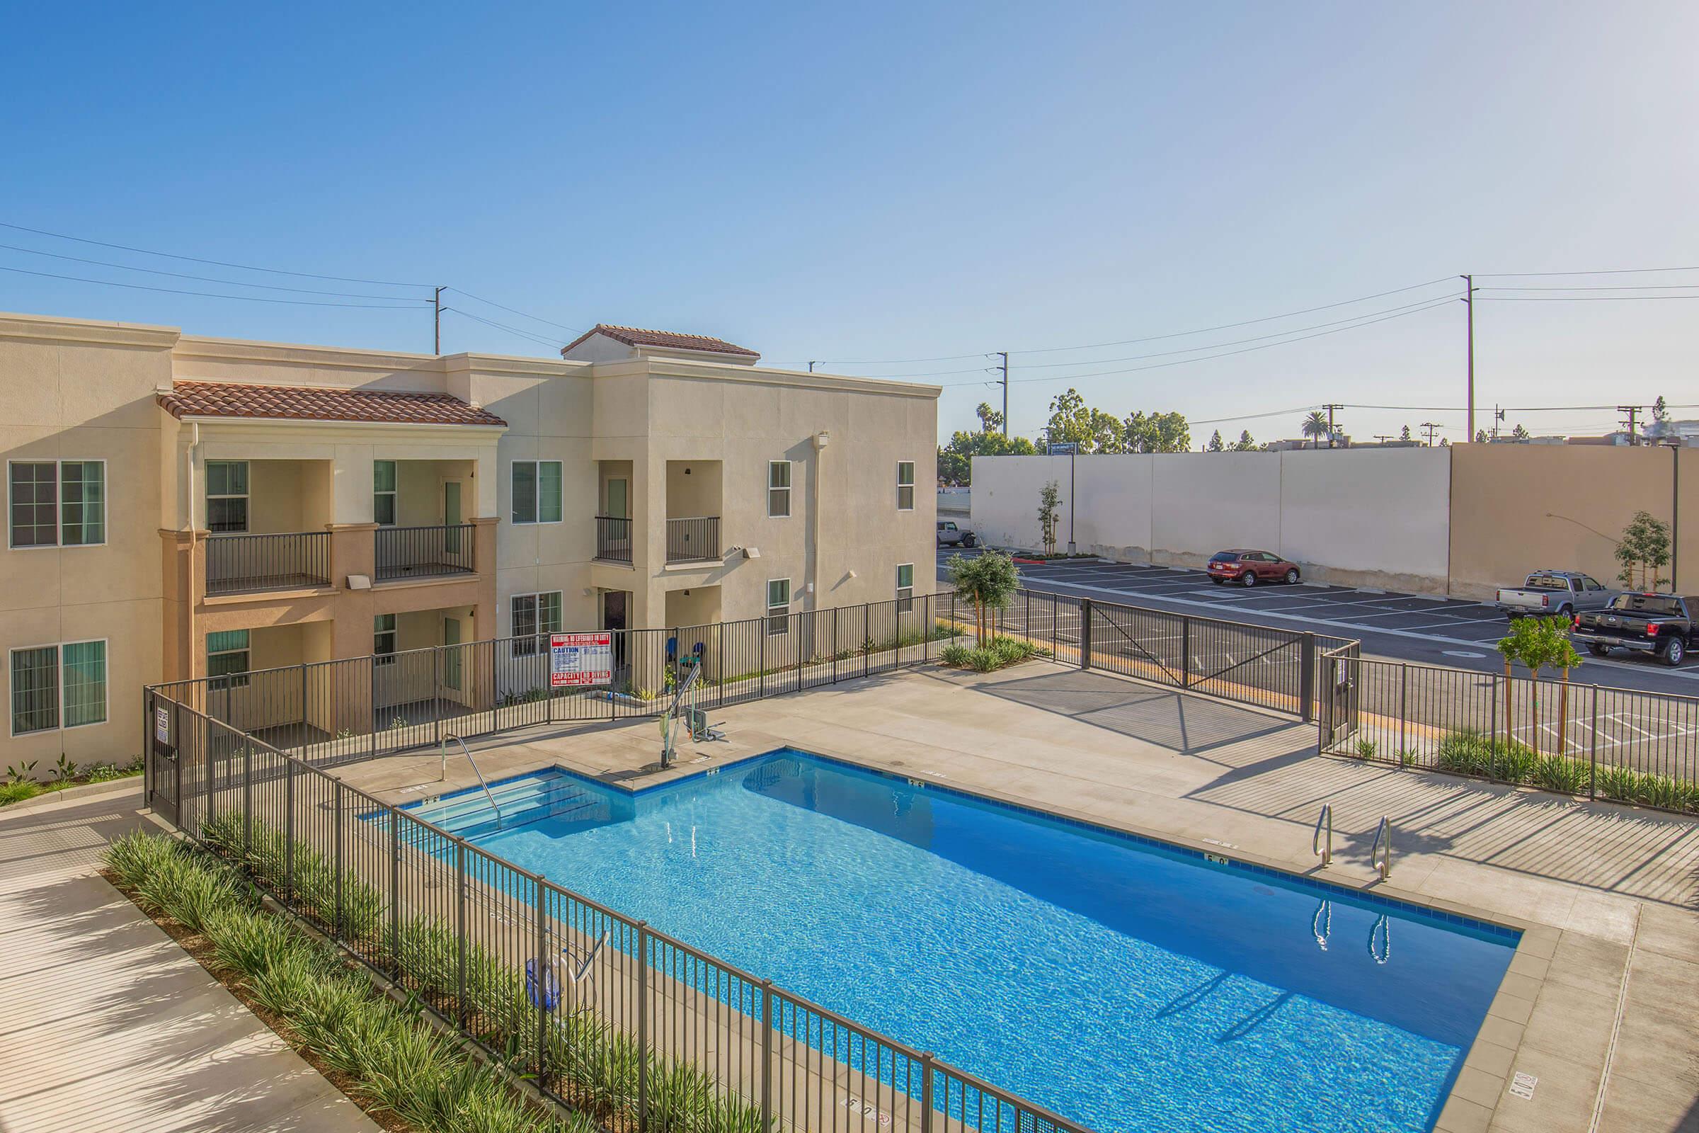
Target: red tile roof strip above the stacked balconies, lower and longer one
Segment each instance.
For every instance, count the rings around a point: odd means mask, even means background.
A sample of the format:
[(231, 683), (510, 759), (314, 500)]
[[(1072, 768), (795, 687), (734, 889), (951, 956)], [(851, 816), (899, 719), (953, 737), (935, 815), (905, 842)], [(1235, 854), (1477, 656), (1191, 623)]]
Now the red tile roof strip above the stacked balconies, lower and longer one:
[(379, 421), (392, 425), (506, 425), (450, 394), (323, 386), (243, 386), (173, 382), (160, 404), (175, 418), (289, 418), (299, 421)]

